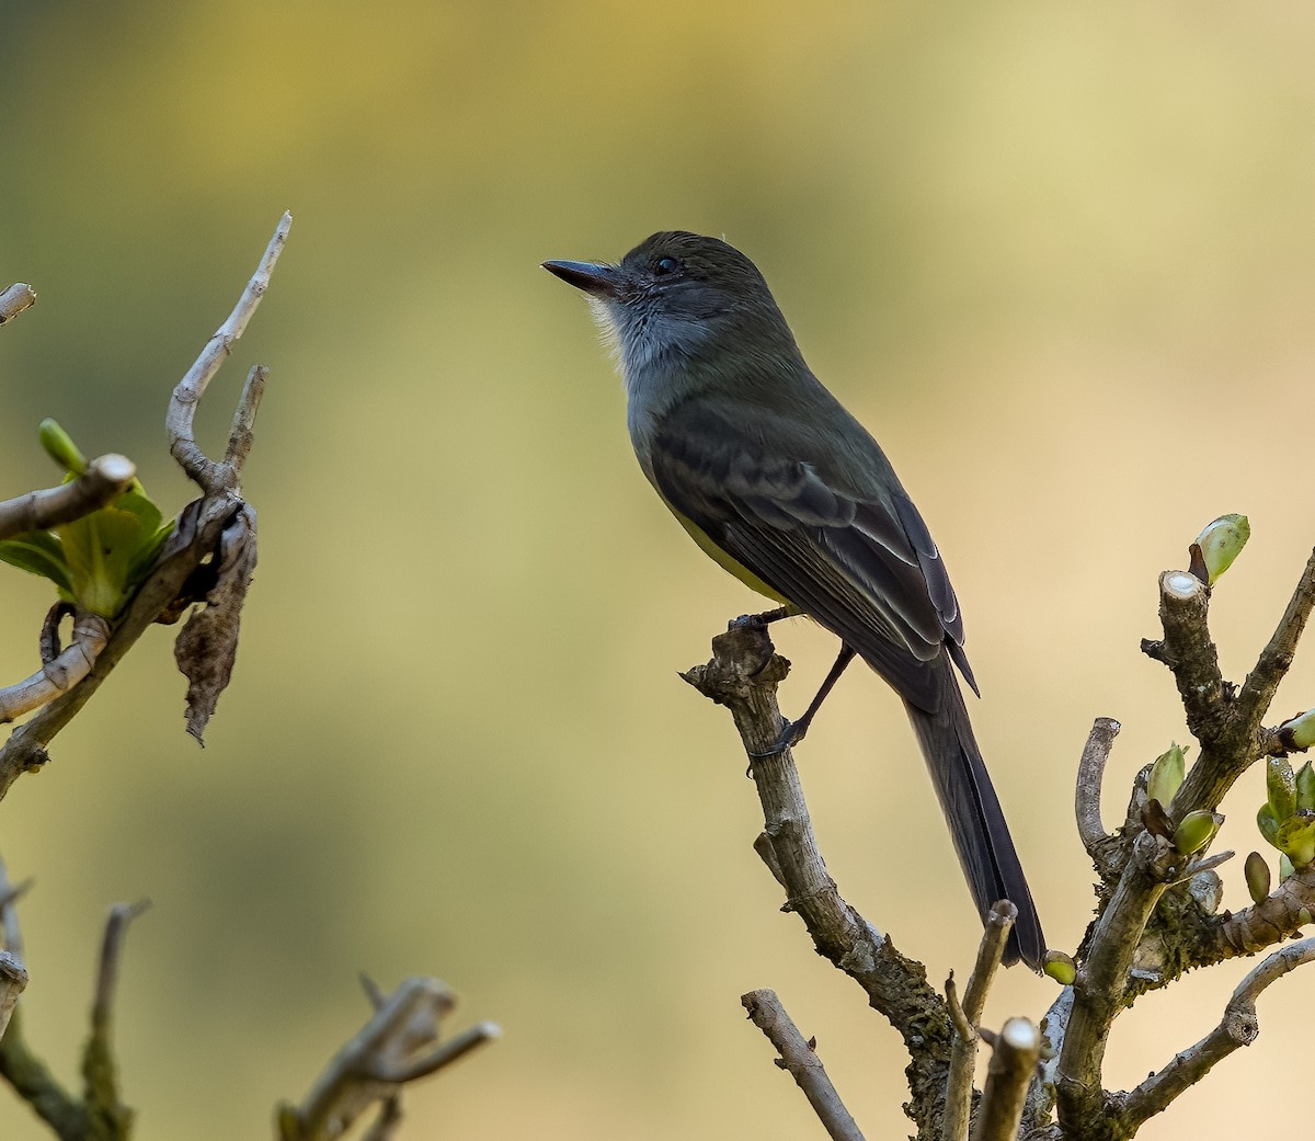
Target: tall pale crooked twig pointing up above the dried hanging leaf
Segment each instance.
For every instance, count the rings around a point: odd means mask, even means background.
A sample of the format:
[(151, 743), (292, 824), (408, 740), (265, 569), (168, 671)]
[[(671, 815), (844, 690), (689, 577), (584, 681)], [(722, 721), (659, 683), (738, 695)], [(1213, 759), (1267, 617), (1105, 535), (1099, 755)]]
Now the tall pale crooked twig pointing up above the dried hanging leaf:
[[(196, 414), (196, 405), (205, 394), (205, 389), (214, 377), (214, 373), (220, 371), (224, 359), (233, 351), (234, 343), (246, 331), (251, 314), (255, 313), (260, 298), (264, 297), (266, 289), (270, 288), (270, 276), (274, 273), (279, 254), (283, 252), (283, 246), (288, 239), (288, 230), (291, 227), (292, 214), (285, 213), (279, 220), (279, 225), (275, 227), (274, 237), (266, 247), (260, 264), (256, 266), (255, 273), (247, 283), (246, 289), (242, 291), (242, 296), (229, 314), (227, 321), (216, 330), (205, 348), (201, 350), (201, 355), (196, 359), (196, 363), (188, 369), (187, 376), (174, 389), (174, 398), (170, 401), (168, 414), (164, 417), (164, 426), (170, 435), (170, 454), (181, 464), (183, 471), (210, 494), (230, 490), (235, 485), (235, 465), (213, 463), (206, 459), (205, 452), (196, 443), (192, 435), (192, 419)], [(252, 381), (249, 379), (247, 389), (250, 390), (251, 388)], [(255, 392), (254, 400), (249, 393), (243, 393), (239, 409), (250, 408), (247, 429), (250, 429), (250, 418), (255, 414), (255, 402), (259, 402), (259, 390)], [(234, 440), (230, 439), (229, 452), (237, 455), (241, 451), (241, 444), (234, 446)]]

